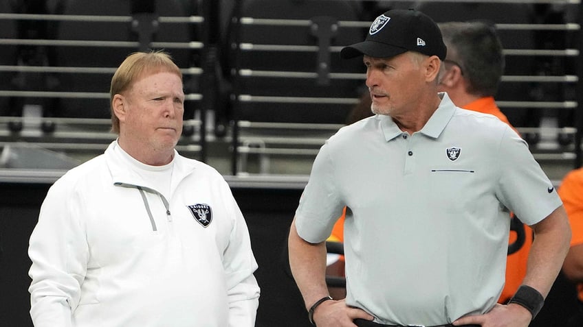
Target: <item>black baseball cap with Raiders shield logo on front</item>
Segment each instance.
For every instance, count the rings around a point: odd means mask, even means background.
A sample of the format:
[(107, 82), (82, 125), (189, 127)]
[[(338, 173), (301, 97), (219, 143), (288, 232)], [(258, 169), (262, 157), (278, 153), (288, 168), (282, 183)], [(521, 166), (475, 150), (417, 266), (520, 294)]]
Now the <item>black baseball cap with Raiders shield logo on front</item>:
[(444, 60), (448, 52), (437, 24), (423, 12), (394, 9), (373, 21), (364, 42), (342, 48), (344, 59), (365, 54), (374, 58), (390, 58), (406, 51), (417, 51)]

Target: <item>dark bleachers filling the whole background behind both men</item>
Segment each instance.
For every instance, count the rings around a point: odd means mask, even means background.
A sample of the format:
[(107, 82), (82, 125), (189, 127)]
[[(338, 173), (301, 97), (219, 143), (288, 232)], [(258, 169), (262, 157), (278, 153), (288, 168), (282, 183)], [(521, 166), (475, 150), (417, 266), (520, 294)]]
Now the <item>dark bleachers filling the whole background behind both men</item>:
[[(340, 60), (338, 51), (362, 39), (377, 14), (417, 7), (436, 21), (494, 22), (507, 60), (498, 105), (538, 159), (580, 163), (580, 5), (551, 2), (3, 1), (5, 13), (41, 14), (0, 19), (0, 123), (12, 133), (8, 141), (77, 144), (95, 137), (67, 141), (52, 132), (86, 130), (86, 120), (70, 119), (100, 119), (91, 124), (109, 141), (115, 66), (132, 51), (166, 49), (185, 73), (184, 149), (196, 143), (206, 160), (208, 134), (221, 146), (216, 153), (230, 150), (224, 159), (232, 175), (307, 173), (305, 162), (346, 122), (364, 89), (360, 60)], [(46, 139), (19, 134), (31, 106), (40, 107)]]

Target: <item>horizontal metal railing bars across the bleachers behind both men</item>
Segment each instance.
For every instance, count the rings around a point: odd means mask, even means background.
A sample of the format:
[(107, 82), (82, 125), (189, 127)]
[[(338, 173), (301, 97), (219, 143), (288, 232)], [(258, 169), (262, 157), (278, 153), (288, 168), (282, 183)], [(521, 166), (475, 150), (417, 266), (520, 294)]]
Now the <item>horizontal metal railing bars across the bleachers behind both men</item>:
[[(398, 2), (398, 1), (391, 1)], [(423, 1), (420, 1), (423, 2)], [(573, 5), (577, 10), (581, 10), (580, 1), (566, 0), (566, 1), (441, 1), (441, 2), (463, 2), (463, 3), (552, 3)], [(536, 72), (530, 71), (524, 74), (512, 73), (511, 75), (504, 75), (502, 77), (502, 84), (560, 84), (568, 85), (574, 88), (575, 98), (558, 99), (556, 101), (549, 100), (524, 100), (524, 99), (503, 99), (498, 101), (498, 106), (503, 110), (517, 108), (521, 110), (552, 110), (553, 112), (567, 112), (569, 110), (575, 112), (575, 121), (572, 126), (559, 126), (557, 128), (538, 128), (532, 126), (516, 126), (519, 132), (524, 134), (546, 134), (555, 135), (562, 134), (573, 138), (574, 142), (569, 146), (557, 147), (537, 147), (533, 146), (533, 154), (538, 160), (562, 160), (573, 161), (573, 166), (581, 165), (581, 128), (583, 126), (582, 117), (580, 114), (580, 103), (583, 97), (583, 90), (580, 82), (582, 76), (582, 45), (581, 35), (581, 13), (577, 12), (579, 21), (569, 21), (562, 24), (544, 24), (544, 23), (496, 23), (496, 28), (506, 33), (514, 33), (521, 31), (539, 31), (539, 32), (553, 32), (558, 34), (569, 34), (577, 37), (571, 38), (575, 40), (574, 43), (568, 43), (564, 49), (505, 49), (505, 56), (516, 58), (560, 58), (560, 60), (571, 60), (574, 62), (574, 68), (565, 71), (564, 74), (557, 75), (539, 75)], [(156, 23), (160, 26), (168, 24), (183, 24), (196, 25), (201, 28), (206, 28), (210, 20), (206, 16), (159, 16), (155, 17)], [(8, 14), (0, 13), (0, 21), (50, 21), (50, 22), (92, 22), (92, 23), (111, 23), (131, 25), (136, 24), (136, 19), (133, 16), (98, 16), (98, 15), (65, 15), (65, 14)], [(309, 27), (314, 26), (314, 21), (309, 19), (257, 19), (254, 17), (244, 16), (239, 19), (242, 26), (263, 26), (263, 27)], [(338, 21), (338, 28), (340, 29), (366, 29), (369, 27), (369, 21)], [(185, 42), (164, 42), (164, 40), (153, 41), (150, 40), (146, 44), (147, 47), (154, 49), (186, 49), (188, 51), (196, 51), (201, 56), (204, 56), (206, 51), (209, 51), (208, 44), (203, 36), (201, 40), (186, 40)], [(236, 49), (243, 53), (252, 54), (254, 56), (262, 56), (263, 53), (304, 53), (314, 54), (320, 53), (322, 48), (318, 44), (308, 45), (294, 45), (294, 44), (269, 44), (269, 43), (252, 43), (240, 40), (236, 45)], [(577, 42), (579, 44), (577, 44)], [(2, 47), (52, 47), (68, 49), (71, 47), (87, 48), (87, 53), (91, 53), (91, 49), (111, 48), (111, 49), (139, 49), (143, 47), (143, 39), (141, 40), (79, 40), (79, 39), (41, 39), (41, 38), (0, 38), (0, 49)], [(338, 45), (330, 45), (325, 49), (328, 53), (338, 54), (342, 47)], [(364, 81), (364, 73), (355, 73), (347, 71), (336, 71), (333, 67), (329, 67), (326, 74), (327, 79), (338, 81)], [(0, 64), (0, 73), (7, 74), (39, 74), (39, 75), (86, 75), (91, 76), (108, 76), (112, 75), (115, 67), (111, 66), (64, 66), (64, 65), (21, 65), (21, 64)], [(181, 67), (181, 72), (186, 76), (195, 80), (200, 79), (208, 73), (208, 66), (200, 64), (197, 66)], [(313, 71), (294, 71), (292, 69), (267, 69), (265, 67), (258, 69), (256, 67), (236, 67), (236, 77), (244, 82), (250, 80), (293, 80), (295, 83), (304, 84), (307, 81), (317, 80), (322, 75), (322, 71), (316, 70), (314, 64)], [(107, 86), (106, 86), (107, 87)], [(206, 152), (208, 144), (206, 139), (212, 137), (212, 126), (206, 126), (206, 110), (210, 108), (204, 101), (208, 100), (210, 96), (208, 92), (212, 90), (204, 90), (197, 88), (195, 91), (187, 92), (186, 100), (194, 104), (199, 110), (198, 117), (190, 117), (186, 119), (185, 128), (193, 132), (181, 138), (179, 143), (179, 151), (184, 151), (187, 154), (200, 158), (206, 158), (202, 153)], [(94, 99), (96, 101), (104, 101), (109, 99), (109, 93), (104, 91), (88, 91), (88, 90), (17, 90), (6, 89), (0, 87), (0, 99), (23, 99), (32, 102), (39, 99)], [(258, 93), (232, 93), (232, 101), (237, 105), (256, 105), (272, 108), (281, 104), (298, 104), (298, 105), (326, 105), (338, 106), (347, 108), (355, 106), (358, 103), (356, 97), (336, 97), (336, 96), (313, 96), (306, 94), (295, 95), (276, 95), (276, 94), (258, 94)], [(200, 108), (199, 108), (200, 107)], [(204, 108), (203, 108), (204, 107)], [(213, 108), (210, 108), (211, 110)], [(216, 109), (216, 108), (214, 108)], [(236, 108), (234, 108), (236, 110)], [(11, 125), (24, 123), (23, 130), (14, 132), (10, 129)], [(43, 123), (55, 123), (58, 128), (53, 132), (43, 132), (36, 128)], [(65, 152), (75, 156), (89, 156), (96, 154), (104, 149), (104, 146), (111, 141), (115, 135), (109, 132), (109, 119), (89, 119), (89, 118), (73, 118), (73, 117), (24, 117), (24, 116), (4, 116), (0, 117), (0, 144), (6, 145), (11, 142), (27, 142), (39, 147), (45, 147), (58, 152)], [(30, 128), (34, 126), (34, 128)], [(274, 158), (294, 158), (295, 160), (305, 160), (309, 162), (318, 152), (319, 147), (325, 140), (331, 136), (342, 124), (309, 124), (309, 123), (275, 123), (236, 119), (232, 122), (232, 126), (236, 129), (232, 134), (228, 134), (224, 138), (213, 138), (217, 142), (225, 142), (231, 144), (231, 150), (234, 152), (232, 158), (225, 158), (225, 160), (232, 161), (233, 175), (241, 173), (250, 173), (248, 167), (254, 160), (263, 160), (264, 167), (259, 171), (266, 174), (277, 175), (278, 171), (270, 171), (270, 160)], [(210, 136), (209, 136), (210, 135)], [(245, 165), (237, 164), (237, 160), (245, 157)], [(252, 158), (253, 157), (253, 158)], [(267, 163), (265, 163), (267, 162)], [(267, 167), (267, 168), (265, 168)], [(307, 173), (307, 172), (306, 172)]]

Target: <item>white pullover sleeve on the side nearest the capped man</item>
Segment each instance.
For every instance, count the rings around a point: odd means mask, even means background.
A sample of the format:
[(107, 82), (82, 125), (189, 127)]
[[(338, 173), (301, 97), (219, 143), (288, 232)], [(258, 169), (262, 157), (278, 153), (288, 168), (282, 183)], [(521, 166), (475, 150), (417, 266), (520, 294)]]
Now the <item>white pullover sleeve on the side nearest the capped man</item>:
[(228, 287), (229, 326), (253, 327), (260, 293), (253, 275), (257, 263), (243, 214), (226, 183), (225, 186), (223, 199), (233, 219), (229, 245), (223, 253), (223, 267)]

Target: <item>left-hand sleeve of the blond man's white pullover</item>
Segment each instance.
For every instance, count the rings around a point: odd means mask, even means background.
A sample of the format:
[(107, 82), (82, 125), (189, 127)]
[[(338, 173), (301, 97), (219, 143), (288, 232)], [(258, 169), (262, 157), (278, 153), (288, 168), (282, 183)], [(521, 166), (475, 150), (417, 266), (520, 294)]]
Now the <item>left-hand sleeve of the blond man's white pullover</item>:
[(78, 211), (72, 192), (57, 181), (41, 206), (28, 249), (30, 315), (35, 327), (72, 326), (88, 257)]

